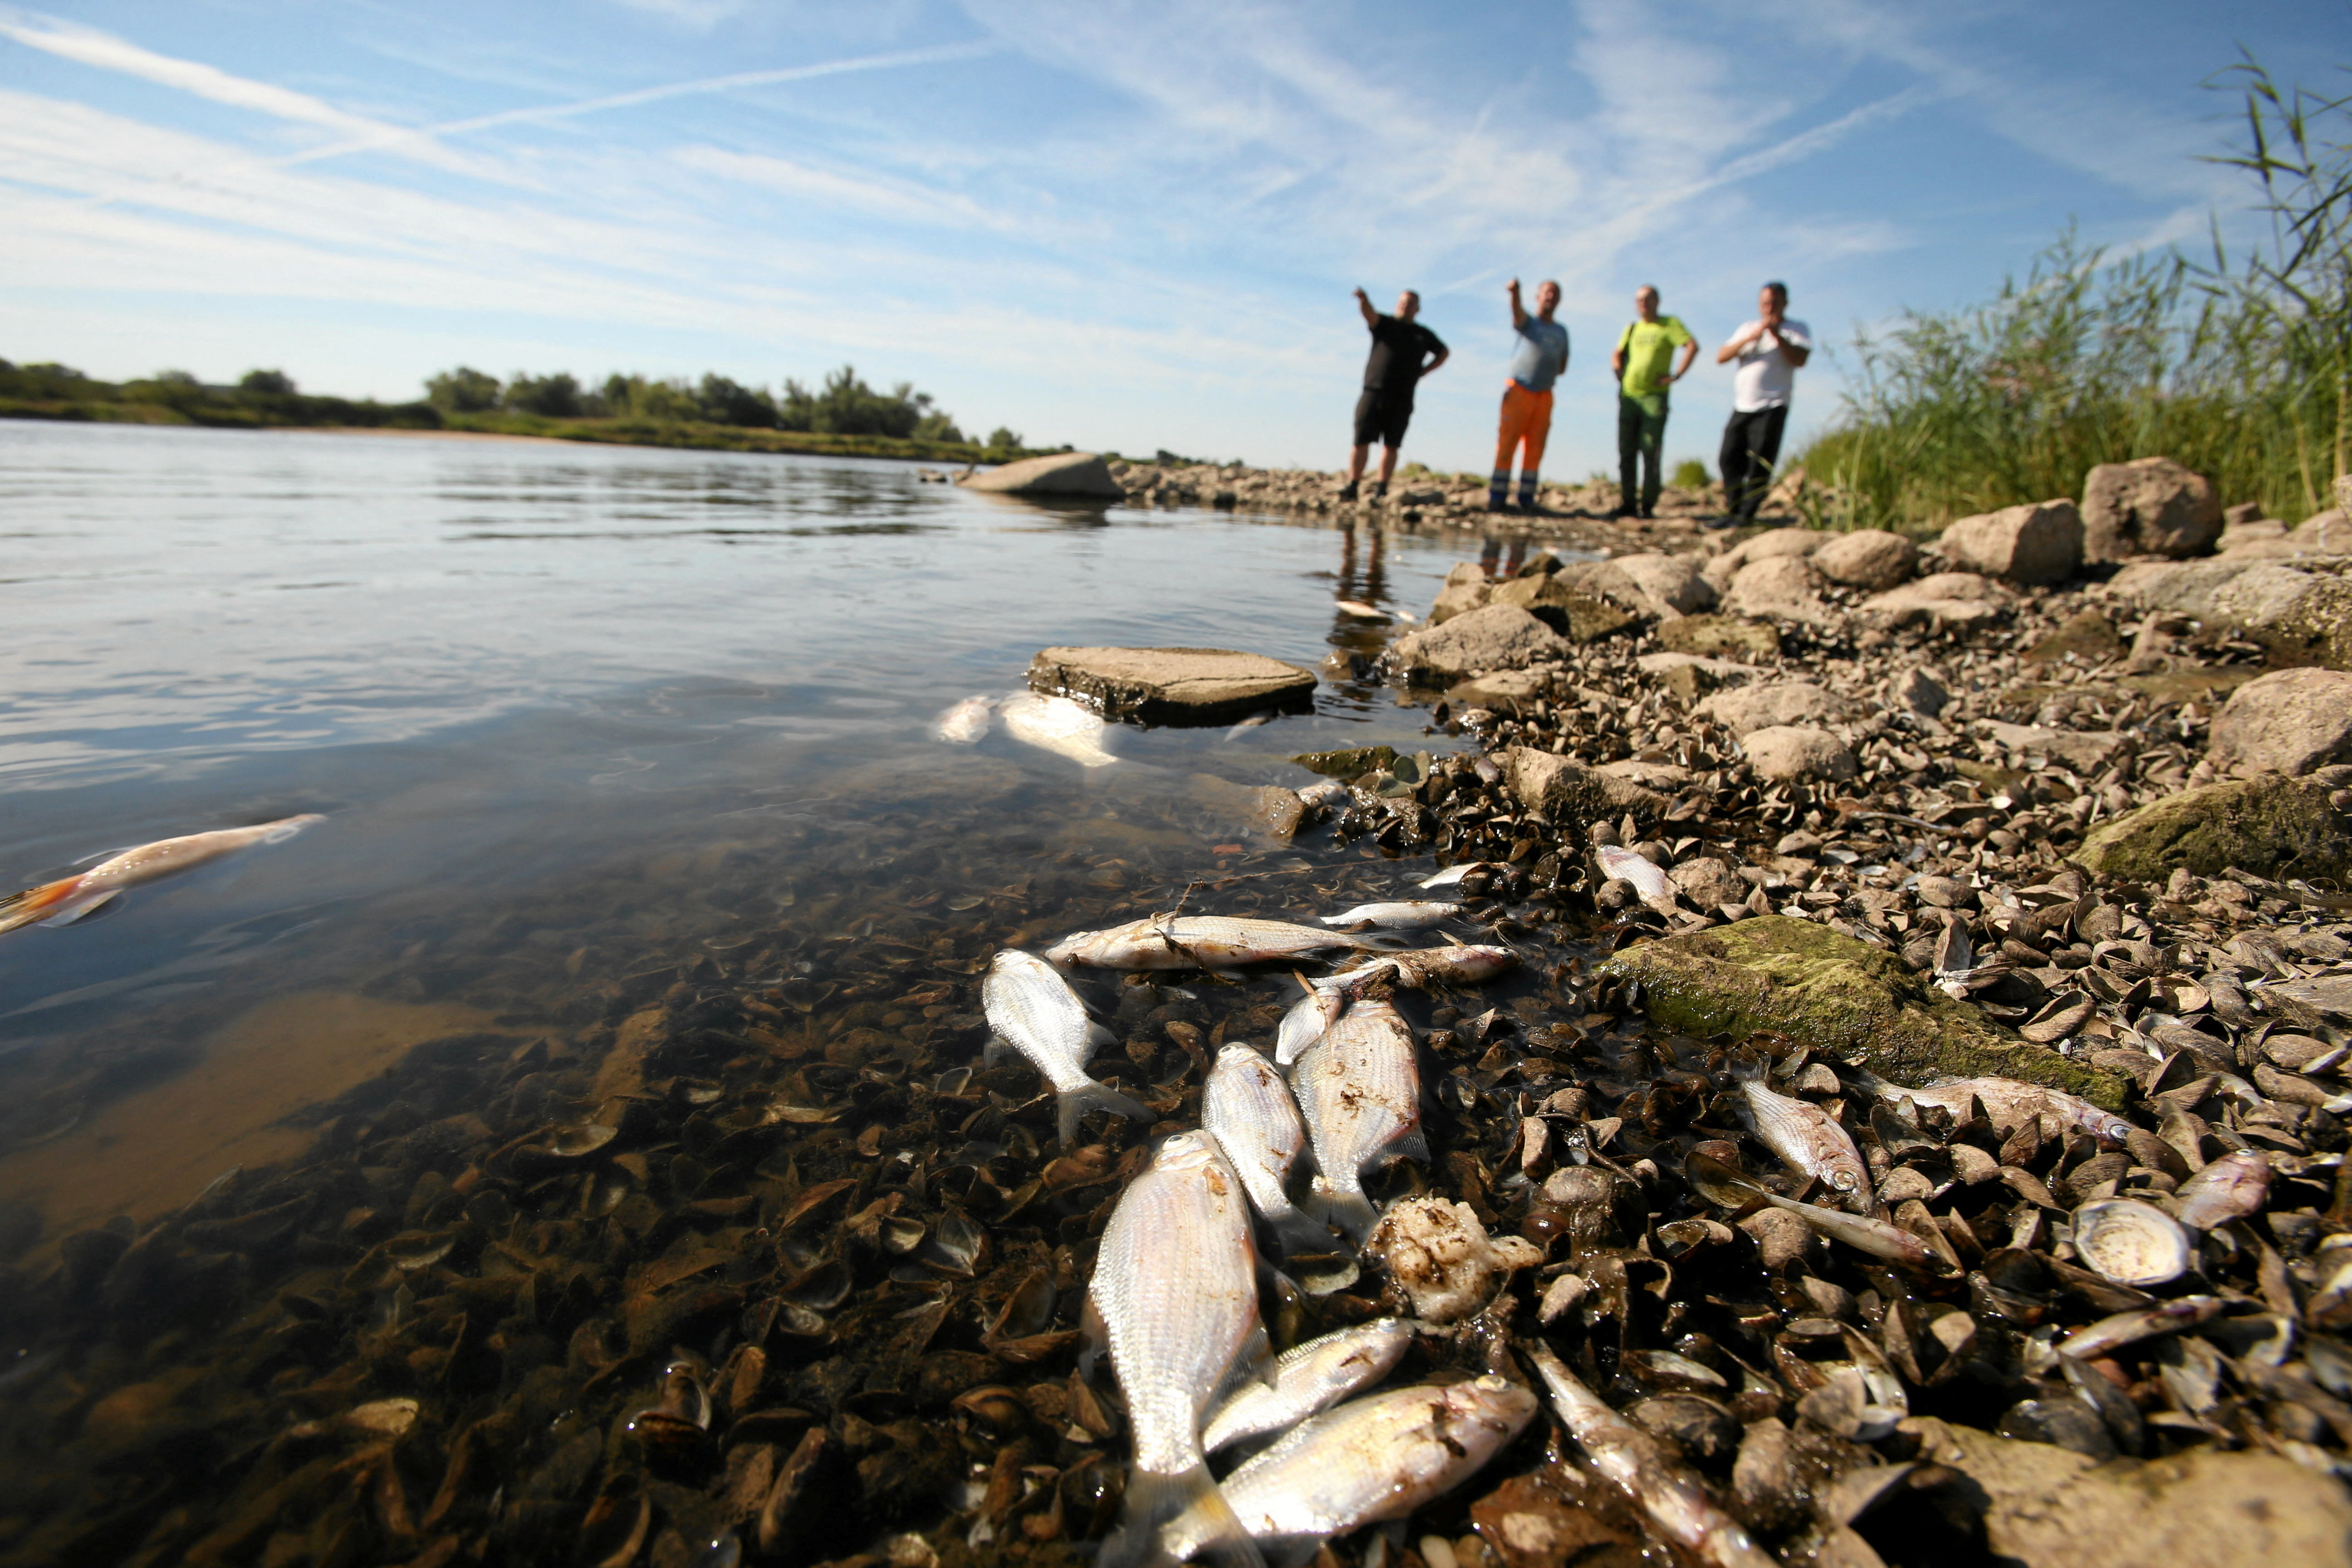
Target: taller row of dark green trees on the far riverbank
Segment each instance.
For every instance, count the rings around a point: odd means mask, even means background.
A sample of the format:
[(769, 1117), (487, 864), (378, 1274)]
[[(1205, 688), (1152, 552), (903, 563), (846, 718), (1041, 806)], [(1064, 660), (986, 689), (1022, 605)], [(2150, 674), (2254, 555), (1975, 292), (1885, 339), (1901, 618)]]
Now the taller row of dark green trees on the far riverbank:
[[(581, 386), (569, 371), (532, 376), (515, 371), (506, 381), (470, 364), (426, 378), (426, 402), (445, 414), (536, 414), (541, 418), (642, 418), (701, 421), (748, 430), (804, 430), (814, 435), (889, 435), (898, 440), (964, 442), (955, 418), (913, 381), (877, 390), (854, 364), (828, 371), (811, 390), (795, 378), (781, 393), (743, 386), (729, 376), (706, 374), (699, 383), (684, 376), (604, 376), (602, 386)], [(1021, 447), (1016, 430), (997, 428), (978, 442), (993, 451)]]

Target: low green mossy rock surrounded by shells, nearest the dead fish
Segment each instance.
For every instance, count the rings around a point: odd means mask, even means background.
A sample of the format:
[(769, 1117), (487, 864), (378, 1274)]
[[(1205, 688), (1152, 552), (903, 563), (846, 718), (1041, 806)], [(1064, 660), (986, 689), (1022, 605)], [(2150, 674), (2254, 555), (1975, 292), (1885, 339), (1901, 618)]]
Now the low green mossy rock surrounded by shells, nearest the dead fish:
[(1639, 943), (1599, 966), (1637, 980), (1661, 1030), (1745, 1039), (1776, 1030), (1896, 1084), (1997, 1074), (2122, 1110), (2124, 1081), (2018, 1039), (1891, 952), (1792, 914)]

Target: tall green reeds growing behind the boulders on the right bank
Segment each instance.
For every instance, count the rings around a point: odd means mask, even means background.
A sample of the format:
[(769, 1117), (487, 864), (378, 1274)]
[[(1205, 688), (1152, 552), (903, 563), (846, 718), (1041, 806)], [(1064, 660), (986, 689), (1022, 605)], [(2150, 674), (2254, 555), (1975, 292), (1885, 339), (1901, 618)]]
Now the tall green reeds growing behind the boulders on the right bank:
[(2352, 94), (2279, 87), (2256, 61), (2223, 162), (2270, 235), (2232, 256), (2110, 261), (2060, 235), (1983, 306), (1860, 334), (1837, 423), (1797, 461), (1806, 522), (1926, 531), (2082, 494), (2096, 463), (2169, 456), (2225, 501), (2305, 517), (2352, 470)]

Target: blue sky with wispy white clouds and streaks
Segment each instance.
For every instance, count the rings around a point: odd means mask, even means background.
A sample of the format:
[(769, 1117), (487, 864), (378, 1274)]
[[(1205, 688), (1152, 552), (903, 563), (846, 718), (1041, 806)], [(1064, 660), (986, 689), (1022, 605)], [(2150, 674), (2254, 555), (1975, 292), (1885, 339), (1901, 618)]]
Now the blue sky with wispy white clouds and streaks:
[[(2244, 45), (2336, 87), (2345, 0), (89, 0), (0, 5), (0, 355), (814, 381), (967, 428), (1334, 468), (1348, 292), (1454, 362), (1406, 456), (1484, 470), (1503, 282), (1557, 277), (1545, 468), (1613, 465), (1639, 282), (1712, 350), (1785, 277), (1830, 346), (1983, 296), (2067, 221), (2244, 228), (2199, 162)], [(1799, 381), (1835, 414), (1839, 355)], [(1729, 409), (1712, 353), (1668, 456)]]

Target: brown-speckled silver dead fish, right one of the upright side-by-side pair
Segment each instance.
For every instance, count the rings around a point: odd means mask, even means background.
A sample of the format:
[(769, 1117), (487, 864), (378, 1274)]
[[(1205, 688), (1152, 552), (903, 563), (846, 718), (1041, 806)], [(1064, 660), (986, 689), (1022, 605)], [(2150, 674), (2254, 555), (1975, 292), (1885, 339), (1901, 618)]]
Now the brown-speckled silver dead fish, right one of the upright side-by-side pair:
[(1364, 1197), (1364, 1171), (1430, 1157), (1411, 1025), (1385, 1001), (1350, 1001), (1298, 1058), (1291, 1088), (1322, 1171), (1315, 1192), (1324, 1218), (1362, 1244), (1381, 1220)]

